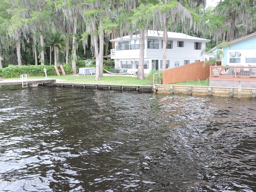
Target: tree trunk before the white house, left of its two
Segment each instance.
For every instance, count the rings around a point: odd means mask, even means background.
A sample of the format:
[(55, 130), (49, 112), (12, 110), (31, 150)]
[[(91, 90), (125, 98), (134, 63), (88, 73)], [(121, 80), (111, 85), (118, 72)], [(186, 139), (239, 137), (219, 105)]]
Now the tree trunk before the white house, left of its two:
[(140, 30), (140, 56), (138, 66), (138, 79), (144, 79), (144, 50), (145, 50), (145, 30)]

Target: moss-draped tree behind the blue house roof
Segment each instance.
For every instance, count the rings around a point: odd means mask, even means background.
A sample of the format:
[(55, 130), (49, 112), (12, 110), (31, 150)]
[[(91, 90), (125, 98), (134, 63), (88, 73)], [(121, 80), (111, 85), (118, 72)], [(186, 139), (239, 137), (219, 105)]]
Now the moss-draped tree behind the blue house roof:
[(256, 30), (256, 4), (252, 0), (221, 0), (206, 14), (214, 41), (231, 41)]

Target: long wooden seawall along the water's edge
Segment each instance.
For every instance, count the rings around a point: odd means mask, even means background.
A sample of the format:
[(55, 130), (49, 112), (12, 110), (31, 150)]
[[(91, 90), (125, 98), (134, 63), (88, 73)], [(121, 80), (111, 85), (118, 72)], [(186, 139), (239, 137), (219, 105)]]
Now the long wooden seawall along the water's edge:
[(188, 86), (188, 85), (162, 85), (137, 86), (137, 85), (108, 85), (108, 84), (83, 84), (83, 83), (42, 83), (41, 86), (67, 87), (67, 88), (88, 88), (102, 90), (120, 90), (120, 91), (138, 91), (154, 92), (166, 94), (189, 94), (189, 95), (212, 95), (228, 97), (252, 97), (256, 96), (255, 88), (228, 88), (228, 87), (210, 87), (210, 86)]

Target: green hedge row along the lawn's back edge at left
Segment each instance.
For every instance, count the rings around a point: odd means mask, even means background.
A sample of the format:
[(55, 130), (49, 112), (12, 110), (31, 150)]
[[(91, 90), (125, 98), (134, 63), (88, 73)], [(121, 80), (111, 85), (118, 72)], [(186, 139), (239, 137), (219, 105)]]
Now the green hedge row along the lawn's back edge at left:
[[(44, 68), (47, 69), (47, 75), (53, 76), (56, 75), (54, 66), (47, 65), (30, 65), (30, 66), (17, 66), (9, 65), (6, 68), (0, 68), (0, 76), (3, 78), (14, 78), (19, 77), (21, 74), (28, 74), (29, 76), (45, 76)], [(60, 69), (60, 66), (58, 66)], [(66, 74), (72, 74), (72, 66), (70, 64), (63, 65), (63, 68)]]

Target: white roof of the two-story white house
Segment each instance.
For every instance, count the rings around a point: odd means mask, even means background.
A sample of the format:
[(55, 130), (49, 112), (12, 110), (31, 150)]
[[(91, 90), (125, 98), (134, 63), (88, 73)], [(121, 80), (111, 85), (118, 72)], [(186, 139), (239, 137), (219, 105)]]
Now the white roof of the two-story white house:
[[(148, 30), (148, 33), (146, 34), (147, 38), (163, 38), (164, 32), (163, 31), (155, 31), (155, 30)], [(180, 39), (180, 40), (198, 40), (198, 41), (210, 41), (208, 39), (204, 39), (204, 38), (198, 38), (198, 37), (193, 37), (190, 35), (186, 35), (184, 33), (176, 33), (176, 32), (168, 32), (167, 33), (168, 38), (170, 39)], [(140, 38), (140, 34), (134, 34), (134, 35), (127, 35), (127, 36), (123, 36), (120, 38), (115, 38), (110, 40), (111, 42), (116, 42), (116, 41), (124, 41), (124, 40), (131, 40), (131, 39), (139, 39)]]

